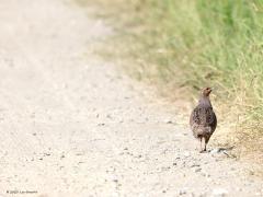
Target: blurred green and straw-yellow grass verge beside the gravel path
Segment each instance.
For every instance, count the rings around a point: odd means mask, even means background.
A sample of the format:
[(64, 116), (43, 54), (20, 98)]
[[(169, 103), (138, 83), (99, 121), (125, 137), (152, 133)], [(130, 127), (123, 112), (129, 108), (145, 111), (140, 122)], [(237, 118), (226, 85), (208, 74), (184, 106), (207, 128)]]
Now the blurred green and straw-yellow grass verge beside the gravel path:
[(215, 88), (218, 143), (263, 161), (263, 0), (78, 1), (116, 28), (104, 56), (171, 101)]

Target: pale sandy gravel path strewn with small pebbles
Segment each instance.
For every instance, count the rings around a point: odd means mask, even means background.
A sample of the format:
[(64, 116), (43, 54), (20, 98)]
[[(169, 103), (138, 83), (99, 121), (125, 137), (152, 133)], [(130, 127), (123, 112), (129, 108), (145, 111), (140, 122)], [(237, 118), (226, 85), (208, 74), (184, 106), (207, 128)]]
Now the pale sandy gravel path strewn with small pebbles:
[(172, 114), (87, 57), (111, 30), (80, 8), (2, 0), (0, 24), (0, 196), (263, 195), (241, 164), (197, 153)]

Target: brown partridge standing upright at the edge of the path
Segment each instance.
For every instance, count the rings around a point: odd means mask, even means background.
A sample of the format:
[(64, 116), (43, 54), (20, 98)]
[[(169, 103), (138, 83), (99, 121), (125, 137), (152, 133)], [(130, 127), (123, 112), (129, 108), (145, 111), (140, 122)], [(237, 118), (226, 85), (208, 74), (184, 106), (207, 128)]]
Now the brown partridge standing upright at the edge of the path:
[[(211, 88), (205, 88), (201, 91), (198, 104), (190, 116), (191, 130), (194, 137), (201, 142), (199, 152), (206, 151), (206, 146), (217, 127), (217, 116), (209, 99), (211, 90)], [(203, 140), (205, 141), (204, 149), (202, 146)]]

